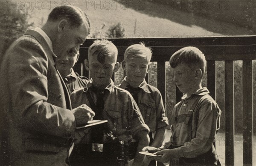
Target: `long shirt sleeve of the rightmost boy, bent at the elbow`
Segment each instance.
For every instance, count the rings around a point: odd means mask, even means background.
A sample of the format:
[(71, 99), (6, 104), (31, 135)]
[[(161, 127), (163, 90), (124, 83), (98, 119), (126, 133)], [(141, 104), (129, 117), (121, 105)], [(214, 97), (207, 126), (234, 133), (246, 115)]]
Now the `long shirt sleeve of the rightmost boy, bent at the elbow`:
[(215, 139), (220, 117), (216, 103), (207, 102), (199, 108), (198, 129), (196, 137), (179, 148), (172, 149), (175, 158), (197, 157), (209, 151)]

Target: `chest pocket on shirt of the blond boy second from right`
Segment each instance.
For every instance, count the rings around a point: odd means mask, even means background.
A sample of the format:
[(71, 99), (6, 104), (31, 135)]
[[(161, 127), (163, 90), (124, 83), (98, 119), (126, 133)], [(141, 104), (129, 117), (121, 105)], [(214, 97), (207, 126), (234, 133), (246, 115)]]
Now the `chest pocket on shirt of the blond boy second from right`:
[(141, 101), (139, 104), (139, 109), (146, 124), (154, 123), (156, 121), (157, 115), (154, 101)]

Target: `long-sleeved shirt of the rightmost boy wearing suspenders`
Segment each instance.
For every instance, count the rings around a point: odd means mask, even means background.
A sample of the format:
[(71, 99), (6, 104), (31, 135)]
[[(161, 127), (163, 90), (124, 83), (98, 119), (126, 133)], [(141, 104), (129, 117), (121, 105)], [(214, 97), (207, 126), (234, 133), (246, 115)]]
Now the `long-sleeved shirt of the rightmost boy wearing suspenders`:
[[(172, 149), (175, 158), (180, 157), (197, 157), (206, 153), (215, 141), (216, 131), (220, 127), (220, 114), (215, 100), (212, 99), (206, 87), (198, 89), (191, 97), (184, 95), (182, 100), (177, 103), (172, 111), (170, 120), (172, 136), (169, 142), (163, 146), (169, 148), (171, 145), (179, 145), (181, 147)], [(188, 126), (185, 124), (184, 118), (192, 105), (195, 103), (194, 95), (204, 95), (198, 101), (195, 110), (198, 110), (198, 123), (195, 124), (195, 118), (192, 120), (192, 140), (188, 140)], [(180, 106), (180, 107), (179, 107)], [(179, 108), (178, 108), (179, 107)], [(177, 118), (177, 122), (175, 120)], [(182, 120), (183, 119), (183, 120)]]

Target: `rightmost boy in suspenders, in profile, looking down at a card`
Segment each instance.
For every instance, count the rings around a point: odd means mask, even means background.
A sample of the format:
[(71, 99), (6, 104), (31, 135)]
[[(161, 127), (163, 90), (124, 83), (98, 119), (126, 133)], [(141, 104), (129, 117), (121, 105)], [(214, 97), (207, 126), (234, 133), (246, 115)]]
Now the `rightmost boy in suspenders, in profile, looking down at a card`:
[(216, 132), (220, 127), (219, 109), (215, 100), (202, 87), (206, 60), (195, 47), (185, 47), (175, 52), (169, 60), (172, 76), (182, 100), (172, 111), (170, 123), (172, 136), (160, 148), (145, 147), (155, 152), (154, 157), (170, 165), (220, 165), (215, 151)]

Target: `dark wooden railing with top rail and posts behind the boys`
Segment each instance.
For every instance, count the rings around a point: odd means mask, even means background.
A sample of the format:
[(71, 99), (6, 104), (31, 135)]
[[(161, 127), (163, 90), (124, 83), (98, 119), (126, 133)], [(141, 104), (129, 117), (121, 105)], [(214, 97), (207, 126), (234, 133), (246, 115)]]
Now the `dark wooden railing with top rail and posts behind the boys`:
[[(88, 47), (95, 39), (88, 39), (81, 46), (79, 62), (74, 69), (88, 76), (83, 62), (87, 59)], [(151, 61), (157, 62), (157, 88), (166, 103), (166, 66), (170, 56), (185, 46), (198, 47), (207, 60), (207, 88), (210, 95), (216, 98), (216, 61), (225, 61), (225, 165), (234, 165), (234, 60), (243, 61), (243, 163), (252, 165), (253, 137), (253, 73), (252, 60), (256, 59), (256, 35), (231, 37), (172, 37), (172, 38), (111, 38), (118, 48), (118, 62), (122, 62), (125, 49), (141, 41), (153, 49)], [(103, 40), (102, 42), (106, 42)], [(114, 79), (114, 76), (113, 76)], [(176, 98), (182, 94), (176, 89)], [(254, 108), (255, 109), (255, 108)]]

